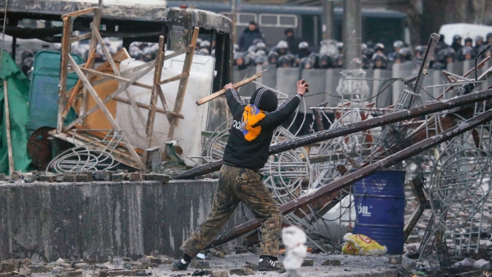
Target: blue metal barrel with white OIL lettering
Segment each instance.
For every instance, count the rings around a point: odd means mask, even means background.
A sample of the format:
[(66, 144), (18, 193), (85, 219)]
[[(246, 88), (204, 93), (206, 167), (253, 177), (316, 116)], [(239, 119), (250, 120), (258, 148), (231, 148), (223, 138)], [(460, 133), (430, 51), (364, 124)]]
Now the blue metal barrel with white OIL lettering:
[(354, 234), (363, 234), (403, 254), (405, 171), (383, 170), (352, 185), (357, 216)]

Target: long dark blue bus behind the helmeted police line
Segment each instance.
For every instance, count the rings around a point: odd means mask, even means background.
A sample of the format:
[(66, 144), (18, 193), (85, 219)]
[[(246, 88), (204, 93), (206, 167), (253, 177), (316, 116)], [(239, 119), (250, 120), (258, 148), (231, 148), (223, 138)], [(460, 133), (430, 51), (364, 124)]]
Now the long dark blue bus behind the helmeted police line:
[[(166, 1), (168, 7), (179, 7), (182, 1)], [(197, 9), (208, 10), (233, 18), (231, 5), (216, 2), (186, 2)], [(286, 28), (294, 29), (297, 37), (308, 42), (310, 46), (318, 47), (322, 40), (322, 7), (240, 4), (236, 8), (236, 28), (238, 36), (249, 22), (254, 21), (265, 37), (265, 44), (273, 47), (284, 39)], [(334, 39), (342, 41), (343, 9), (334, 9)], [(391, 28), (388, 28), (391, 26)], [(401, 40), (409, 44), (407, 15), (393, 10), (362, 9), (362, 42), (380, 42), (385, 46)]]

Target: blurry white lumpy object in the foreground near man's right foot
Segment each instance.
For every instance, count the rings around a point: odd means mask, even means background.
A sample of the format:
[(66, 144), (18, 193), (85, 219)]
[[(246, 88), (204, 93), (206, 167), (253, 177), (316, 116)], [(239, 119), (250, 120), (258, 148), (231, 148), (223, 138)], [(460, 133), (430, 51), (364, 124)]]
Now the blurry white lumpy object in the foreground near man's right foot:
[(289, 277), (297, 276), (296, 270), (301, 268), (308, 247), (306, 243), (306, 234), (297, 226), (289, 226), (282, 229), (282, 242), (285, 246), (285, 259), (283, 267)]

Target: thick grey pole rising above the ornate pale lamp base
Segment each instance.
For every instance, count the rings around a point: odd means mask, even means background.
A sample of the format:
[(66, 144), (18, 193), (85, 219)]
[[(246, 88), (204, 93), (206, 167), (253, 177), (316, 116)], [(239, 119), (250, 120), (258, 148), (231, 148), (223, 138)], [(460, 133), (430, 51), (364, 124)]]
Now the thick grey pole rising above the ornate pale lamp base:
[(360, 0), (343, 0), (343, 69), (353, 70), (360, 69), (360, 63), (354, 62), (360, 60), (360, 44), (362, 19)]

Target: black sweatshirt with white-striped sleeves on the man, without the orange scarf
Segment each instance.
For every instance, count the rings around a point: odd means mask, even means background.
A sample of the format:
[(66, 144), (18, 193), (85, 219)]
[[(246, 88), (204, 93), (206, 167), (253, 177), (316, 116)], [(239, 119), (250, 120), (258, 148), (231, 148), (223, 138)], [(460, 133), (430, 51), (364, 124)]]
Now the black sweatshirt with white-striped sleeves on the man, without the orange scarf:
[(252, 141), (246, 140), (241, 130), (241, 118), (247, 105), (241, 101), (235, 89), (228, 89), (226, 97), (233, 114), (233, 121), (222, 160), (224, 164), (231, 166), (259, 170), (267, 163), (273, 132), (296, 110), (302, 95), (294, 94), (277, 110), (264, 112), (265, 117), (255, 125), (255, 127), (261, 126), (261, 132)]

